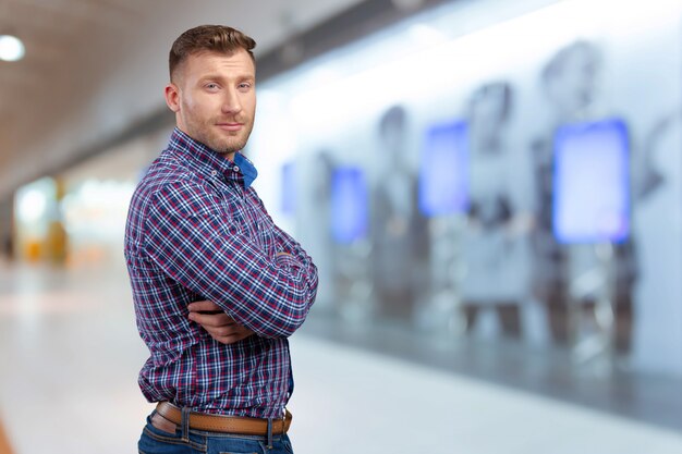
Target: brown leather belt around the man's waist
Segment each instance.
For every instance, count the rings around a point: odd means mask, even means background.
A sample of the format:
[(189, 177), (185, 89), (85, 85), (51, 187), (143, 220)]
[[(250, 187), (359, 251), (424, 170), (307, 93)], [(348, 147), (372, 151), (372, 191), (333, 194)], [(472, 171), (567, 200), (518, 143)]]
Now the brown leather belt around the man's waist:
[[(182, 425), (182, 410), (169, 402), (159, 402), (156, 406), (156, 413), (178, 426)], [(291, 426), (291, 419), (292, 416), (289, 410), (282, 419), (272, 419), (272, 434), (287, 433)], [(268, 420), (191, 412), (190, 429), (265, 437), (268, 434)]]

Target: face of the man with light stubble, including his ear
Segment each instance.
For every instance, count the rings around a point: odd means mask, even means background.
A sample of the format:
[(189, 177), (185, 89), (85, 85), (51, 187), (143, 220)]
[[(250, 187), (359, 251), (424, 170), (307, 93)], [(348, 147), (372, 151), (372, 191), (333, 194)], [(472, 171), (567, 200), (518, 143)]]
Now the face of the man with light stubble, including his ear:
[(166, 87), (178, 127), (232, 158), (246, 145), (256, 113), (256, 69), (248, 53), (190, 56)]

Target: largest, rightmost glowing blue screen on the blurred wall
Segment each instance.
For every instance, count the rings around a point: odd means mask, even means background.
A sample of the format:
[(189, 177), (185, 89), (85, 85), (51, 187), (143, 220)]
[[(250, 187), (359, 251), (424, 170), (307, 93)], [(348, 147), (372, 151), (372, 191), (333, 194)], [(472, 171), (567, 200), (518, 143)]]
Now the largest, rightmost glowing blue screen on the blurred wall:
[(618, 119), (555, 136), (553, 233), (561, 243), (621, 242), (630, 233), (630, 146)]

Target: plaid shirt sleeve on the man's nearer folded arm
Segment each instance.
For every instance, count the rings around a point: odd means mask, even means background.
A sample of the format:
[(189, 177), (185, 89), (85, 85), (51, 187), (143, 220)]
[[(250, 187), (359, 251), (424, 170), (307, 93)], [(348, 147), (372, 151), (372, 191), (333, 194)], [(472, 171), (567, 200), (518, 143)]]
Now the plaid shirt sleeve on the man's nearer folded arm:
[(293, 334), (315, 299), (317, 269), (302, 262), (300, 253), (266, 255), (240, 232), (219, 197), (195, 182), (162, 186), (146, 222), (149, 257), (256, 334)]

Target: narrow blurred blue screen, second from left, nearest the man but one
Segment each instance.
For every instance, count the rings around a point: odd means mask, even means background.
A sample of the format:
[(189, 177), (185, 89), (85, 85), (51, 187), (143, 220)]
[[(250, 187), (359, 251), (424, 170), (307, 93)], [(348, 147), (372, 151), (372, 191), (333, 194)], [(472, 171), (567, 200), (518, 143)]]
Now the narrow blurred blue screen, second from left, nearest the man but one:
[(363, 171), (339, 167), (331, 176), (331, 229), (337, 243), (364, 238), (368, 229), (368, 193)]

